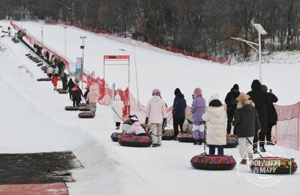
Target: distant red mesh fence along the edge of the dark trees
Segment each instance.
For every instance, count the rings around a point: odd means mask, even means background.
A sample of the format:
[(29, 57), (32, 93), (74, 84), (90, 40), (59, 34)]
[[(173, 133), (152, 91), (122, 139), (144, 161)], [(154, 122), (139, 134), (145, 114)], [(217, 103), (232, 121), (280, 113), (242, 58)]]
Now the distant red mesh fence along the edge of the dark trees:
[[(120, 36), (117, 36), (115, 34), (111, 34), (109, 32), (107, 32), (106, 30), (99, 30), (99, 29), (95, 29), (92, 27), (87, 27), (84, 25), (79, 25), (79, 24), (74, 24), (71, 22), (67, 22), (67, 21), (57, 21), (57, 20), (50, 20), (50, 21), (45, 21), (45, 24), (62, 24), (62, 25), (69, 25), (69, 26), (74, 26), (86, 31), (90, 31), (93, 33), (97, 33), (97, 34), (105, 34), (105, 37), (113, 39), (113, 40), (118, 40), (120, 42), (128, 42), (128, 39), (122, 38)], [(144, 43), (144, 42), (143, 42)], [(145, 43), (144, 43), (145, 44)], [(162, 45), (158, 45), (158, 44), (153, 44), (153, 43), (148, 43), (148, 45), (140, 45), (143, 48), (148, 48), (151, 50), (156, 50), (159, 51), (153, 47), (156, 48), (160, 48), (162, 50), (166, 50), (169, 52), (173, 52), (173, 53), (178, 53), (178, 54), (183, 54), (184, 56), (190, 56), (190, 57), (194, 57), (194, 58), (200, 58), (200, 59), (206, 59), (206, 60), (210, 60), (210, 61), (214, 61), (214, 62), (218, 62), (218, 63), (223, 63), (226, 65), (231, 65), (231, 60), (230, 59), (223, 59), (222, 57), (217, 57), (217, 56), (213, 56), (213, 55), (209, 55), (206, 53), (194, 53), (194, 52), (188, 52), (186, 50), (183, 49), (178, 49), (178, 48), (174, 48), (174, 47), (169, 47), (169, 46), (162, 46)], [(152, 47), (151, 47), (152, 46)]]

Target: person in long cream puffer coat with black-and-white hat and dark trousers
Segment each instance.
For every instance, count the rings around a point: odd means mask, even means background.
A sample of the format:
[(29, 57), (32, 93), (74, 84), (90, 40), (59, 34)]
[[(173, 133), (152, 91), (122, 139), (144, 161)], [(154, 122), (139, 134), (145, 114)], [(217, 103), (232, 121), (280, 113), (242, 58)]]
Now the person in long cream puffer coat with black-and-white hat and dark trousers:
[(202, 118), (207, 126), (206, 143), (209, 147), (209, 154), (214, 154), (215, 148), (217, 148), (217, 154), (223, 155), (226, 144), (226, 109), (218, 94), (211, 95), (208, 102)]

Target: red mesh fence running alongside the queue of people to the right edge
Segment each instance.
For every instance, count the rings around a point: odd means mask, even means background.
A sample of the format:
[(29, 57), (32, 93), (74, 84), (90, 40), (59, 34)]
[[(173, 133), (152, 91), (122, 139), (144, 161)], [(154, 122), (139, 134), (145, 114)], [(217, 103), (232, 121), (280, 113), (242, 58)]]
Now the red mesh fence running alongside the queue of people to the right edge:
[[(10, 22), (10, 24), (14, 29), (19, 29), (19, 27), (12, 22)], [(36, 38), (30, 36), (28, 33), (26, 35), (26, 39), (30, 42), (30, 44), (39, 43)], [(58, 53), (54, 49), (51, 49), (51, 52)], [(61, 59), (64, 58), (61, 57)], [(70, 59), (64, 60), (70, 61)], [(68, 62), (66, 64), (68, 64)], [(83, 70), (82, 79), (86, 83), (87, 87), (97, 88), (99, 93), (98, 102), (100, 104), (109, 105), (111, 103), (112, 89), (105, 85), (104, 79), (101, 79), (99, 76), (95, 76), (93, 72), (90, 73), (85, 69)], [(124, 102), (123, 119), (126, 119), (129, 113), (136, 114), (141, 120), (145, 118), (146, 107), (137, 101), (128, 88), (125, 90), (116, 89), (114, 94), (119, 94), (121, 100)], [(278, 121), (277, 125), (273, 126), (272, 129), (273, 141), (278, 145), (300, 150), (300, 102), (284, 106), (275, 105), (275, 108), (278, 113)], [(173, 123), (172, 109), (172, 106), (167, 108), (168, 125)], [(188, 111), (189, 108), (186, 107), (185, 113)]]

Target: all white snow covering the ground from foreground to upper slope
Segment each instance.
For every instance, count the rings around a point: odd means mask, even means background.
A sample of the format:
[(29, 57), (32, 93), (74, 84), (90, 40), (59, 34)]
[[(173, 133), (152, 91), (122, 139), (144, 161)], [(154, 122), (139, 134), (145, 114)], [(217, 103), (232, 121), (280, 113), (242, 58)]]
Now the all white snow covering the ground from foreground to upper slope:
[[(5, 28), (8, 23), (1, 22)], [(40, 34), (40, 24), (23, 22), (27, 31)], [(64, 31), (60, 25), (45, 25), (43, 41), (64, 51)], [(72, 27), (67, 28), (67, 56), (80, 56), (79, 35), (86, 35), (85, 68), (101, 75), (103, 54), (124, 54), (118, 48), (132, 46), (106, 39)], [(71, 149), (84, 168), (73, 170), (76, 182), (67, 183), (70, 194), (297, 194), (300, 190), (299, 171), (285, 175), (276, 184), (260, 187), (245, 176), (237, 175), (237, 166), (228, 171), (197, 170), (191, 167), (190, 158), (204, 151), (203, 145), (162, 141), (161, 147), (124, 147), (110, 140), (114, 132), (113, 112), (109, 106), (97, 105), (93, 119), (78, 118), (78, 111), (65, 111), (71, 105), (67, 94), (53, 91), (47, 81), (37, 82), (45, 74), (34, 62), (25, 57), (28, 50), (10, 37), (0, 39), (0, 96), (4, 108), (1, 122), (1, 152), (36, 152)], [(130, 54), (131, 55), (131, 54)], [(223, 97), (237, 82), (241, 91), (248, 91), (256, 66), (225, 66), (205, 60), (193, 60), (171, 54), (162, 54), (136, 47), (140, 97), (144, 104), (151, 89), (158, 87), (170, 105), (173, 90), (179, 87), (188, 102), (193, 88), (203, 89), (204, 97), (218, 92)], [(133, 60), (131, 60), (133, 61)], [(21, 66), (22, 68), (19, 68)], [(279, 104), (298, 100), (294, 88), (299, 83), (298, 64), (264, 64), (264, 80), (279, 97)], [(26, 68), (24, 68), (26, 67)], [(131, 66), (134, 67), (134, 63)], [(132, 69), (134, 70), (134, 68)], [(107, 81), (126, 87), (124, 69), (107, 70)], [(134, 80), (134, 71), (132, 80)], [(106, 72), (105, 72), (106, 73)], [(31, 76), (33, 75), (33, 77)], [(134, 84), (131, 85), (134, 92)], [(61, 87), (61, 81), (58, 82)], [(293, 95), (292, 95), (293, 94)], [(207, 148), (206, 148), (207, 149)], [(286, 156), (299, 162), (300, 152), (283, 148)], [(207, 151), (207, 150), (206, 150)], [(238, 147), (225, 148), (225, 154), (239, 158)], [(250, 172), (247, 165), (240, 171)]]

